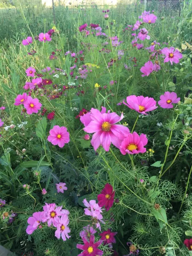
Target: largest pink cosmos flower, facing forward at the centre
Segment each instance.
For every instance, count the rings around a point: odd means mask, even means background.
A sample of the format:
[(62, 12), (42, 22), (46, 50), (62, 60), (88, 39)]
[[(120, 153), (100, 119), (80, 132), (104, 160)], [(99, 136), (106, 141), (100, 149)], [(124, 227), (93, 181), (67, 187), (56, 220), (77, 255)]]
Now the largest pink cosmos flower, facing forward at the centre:
[(120, 140), (123, 140), (129, 129), (121, 124), (116, 124), (123, 119), (123, 114), (118, 116), (116, 113), (101, 114), (98, 109), (91, 109), (91, 122), (83, 129), (85, 132), (94, 133), (91, 144), (94, 150), (97, 150), (100, 145), (109, 151), (112, 143), (119, 148)]

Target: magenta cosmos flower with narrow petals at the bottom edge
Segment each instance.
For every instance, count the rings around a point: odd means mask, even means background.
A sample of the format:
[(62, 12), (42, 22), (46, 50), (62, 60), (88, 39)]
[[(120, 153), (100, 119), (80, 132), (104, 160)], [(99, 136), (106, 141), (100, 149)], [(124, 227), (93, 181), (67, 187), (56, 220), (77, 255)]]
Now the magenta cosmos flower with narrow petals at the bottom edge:
[(103, 251), (98, 249), (98, 246), (103, 243), (102, 240), (99, 240), (98, 242), (94, 243), (95, 236), (91, 235), (90, 240), (86, 240), (84, 237), (82, 237), (82, 240), (84, 244), (77, 244), (77, 248), (80, 250), (83, 250), (80, 254), (77, 256), (96, 256), (96, 255), (103, 255)]

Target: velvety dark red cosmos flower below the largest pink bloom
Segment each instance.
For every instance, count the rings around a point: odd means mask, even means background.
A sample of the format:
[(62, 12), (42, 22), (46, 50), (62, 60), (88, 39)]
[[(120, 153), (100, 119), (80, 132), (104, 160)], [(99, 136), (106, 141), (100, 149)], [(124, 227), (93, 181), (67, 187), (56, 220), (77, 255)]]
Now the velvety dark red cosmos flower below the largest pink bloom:
[(105, 206), (106, 211), (108, 211), (113, 205), (114, 196), (115, 190), (113, 191), (113, 187), (107, 183), (101, 191), (101, 194), (97, 196), (99, 206)]

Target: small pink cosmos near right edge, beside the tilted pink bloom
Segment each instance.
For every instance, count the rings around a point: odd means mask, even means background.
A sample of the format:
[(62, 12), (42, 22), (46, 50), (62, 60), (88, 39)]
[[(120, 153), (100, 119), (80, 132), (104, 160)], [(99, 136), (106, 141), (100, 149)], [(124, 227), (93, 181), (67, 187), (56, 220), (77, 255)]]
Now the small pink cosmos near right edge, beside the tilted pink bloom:
[(163, 95), (160, 96), (160, 100), (158, 104), (162, 108), (173, 108), (172, 103), (178, 103), (180, 98), (177, 98), (177, 93), (175, 92), (165, 92)]

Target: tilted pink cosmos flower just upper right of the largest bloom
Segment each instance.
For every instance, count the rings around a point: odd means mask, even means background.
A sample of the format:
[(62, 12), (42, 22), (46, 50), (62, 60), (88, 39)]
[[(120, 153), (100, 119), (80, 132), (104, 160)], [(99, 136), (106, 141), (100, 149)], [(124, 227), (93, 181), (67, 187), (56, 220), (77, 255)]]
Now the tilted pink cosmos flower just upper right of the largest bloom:
[(146, 112), (152, 111), (156, 108), (156, 101), (153, 98), (130, 95), (126, 98), (127, 103), (123, 101), (123, 104), (128, 108), (134, 109), (140, 114), (148, 115)]

